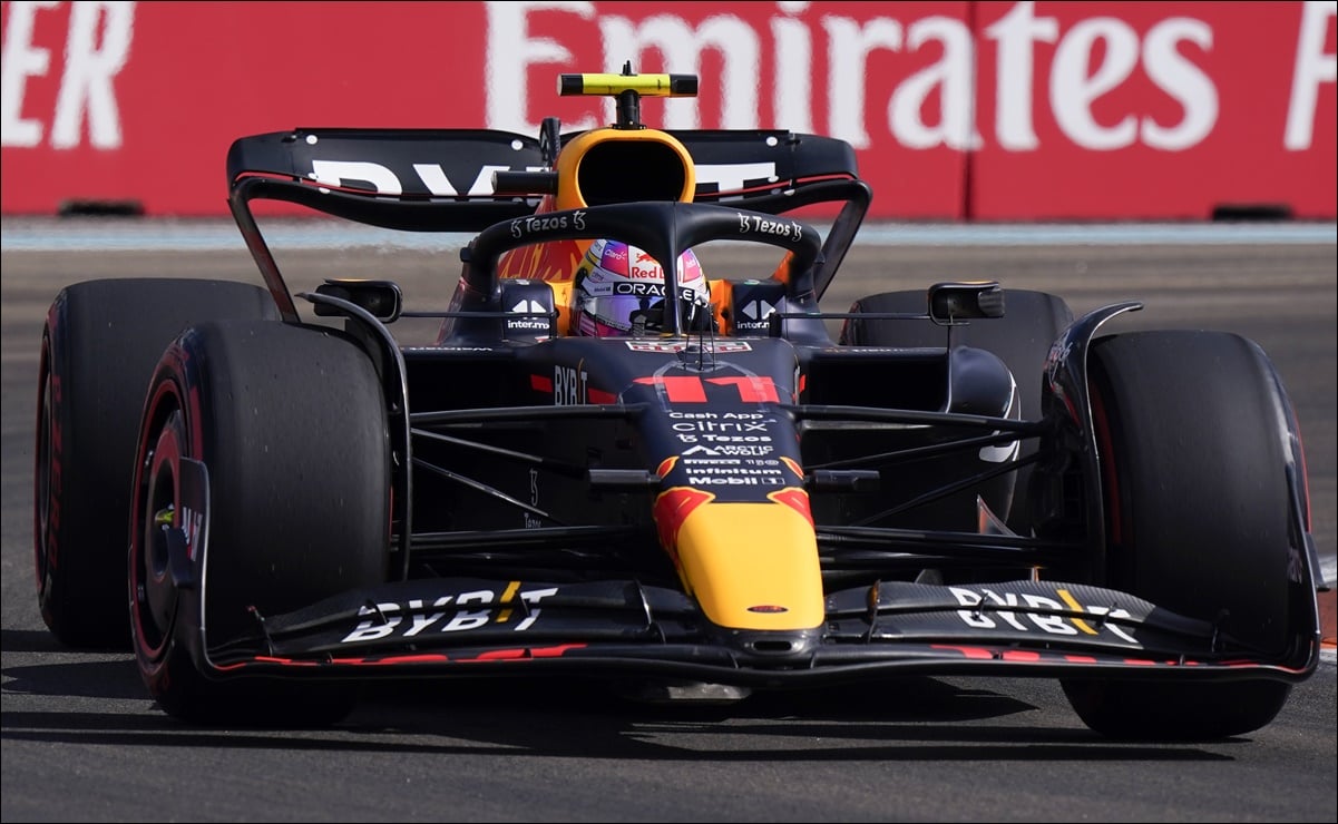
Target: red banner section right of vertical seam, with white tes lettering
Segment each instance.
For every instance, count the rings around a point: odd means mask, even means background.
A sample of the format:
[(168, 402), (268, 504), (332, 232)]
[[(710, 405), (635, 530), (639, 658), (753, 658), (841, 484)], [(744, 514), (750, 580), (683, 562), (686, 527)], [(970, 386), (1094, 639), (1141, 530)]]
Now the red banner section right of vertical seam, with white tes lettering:
[(977, 15), (967, 217), (1338, 211), (1334, 3), (982, 3)]

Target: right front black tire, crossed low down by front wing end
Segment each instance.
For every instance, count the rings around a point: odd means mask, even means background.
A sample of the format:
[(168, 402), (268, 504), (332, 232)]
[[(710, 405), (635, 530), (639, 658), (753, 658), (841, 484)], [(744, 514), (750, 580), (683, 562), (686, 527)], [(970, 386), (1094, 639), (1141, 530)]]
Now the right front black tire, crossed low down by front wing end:
[[(1107, 581), (1259, 651), (1290, 643), (1291, 404), (1263, 350), (1219, 332), (1135, 332), (1089, 354), (1103, 455)], [(1070, 680), (1092, 729), (1135, 740), (1255, 730), (1291, 685), (1274, 680)]]

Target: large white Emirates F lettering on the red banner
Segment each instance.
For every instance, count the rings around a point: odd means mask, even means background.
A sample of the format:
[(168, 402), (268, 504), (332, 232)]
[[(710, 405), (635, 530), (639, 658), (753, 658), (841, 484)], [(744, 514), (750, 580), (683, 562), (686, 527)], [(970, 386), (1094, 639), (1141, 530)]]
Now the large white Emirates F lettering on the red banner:
[[(1334, 76), (1333, 56), (1322, 54), (1333, 5), (1306, 4), (1293, 108), (1288, 112), (1288, 147), (1299, 147), (1302, 142), (1309, 144), (1317, 96), (1314, 87)], [(735, 15), (709, 16), (693, 27), (672, 13), (640, 21), (599, 15), (593, 3), (490, 3), (488, 127), (537, 128), (527, 123), (524, 75), (531, 64), (570, 60), (573, 52), (553, 39), (533, 37), (530, 13), (561, 11), (598, 24), (599, 56), (605, 66), (622, 66), (630, 60), (640, 68), (644, 52), (654, 49), (662, 55), (665, 71), (700, 74), (702, 51), (717, 51), (723, 63), (720, 126), (724, 128), (760, 127), (757, 76), (761, 52), (764, 45), (776, 49), (773, 126), (799, 131), (816, 127), (858, 150), (868, 148), (875, 142), (864, 122), (870, 56), (876, 51), (914, 54), (937, 45), (941, 58), (899, 79), (892, 88), (886, 104), (887, 130), (900, 144), (915, 150), (983, 147), (986, 138), (974, 122), (977, 48), (965, 20), (927, 16), (903, 23), (886, 16), (860, 20), (820, 15), (815, 25), (796, 17), (820, 8), (820, 4), (777, 3), (779, 15), (768, 19), (771, 43), (764, 44), (753, 23)], [(814, 122), (822, 112), (814, 106), (811, 90), (812, 39), (818, 27), (827, 40), (826, 124)], [(1212, 49), (1214, 31), (1203, 20), (1168, 17), (1153, 24), (1140, 40), (1132, 25), (1112, 16), (1082, 19), (1068, 31), (1061, 31), (1057, 17), (1037, 16), (1036, 3), (1026, 0), (1014, 4), (989, 25), (983, 36), (998, 44), (998, 86), (993, 90), (998, 104), (993, 126), (994, 140), (1008, 151), (1041, 148), (1034, 130), (1036, 100), (1032, 95), (1033, 76), (1038, 71), (1038, 43), (1054, 44), (1054, 58), (1045, 72), (1049, 90), (1045, 103), (1058, 128), (1077, 146), (1112, 151), (1141, 142), (1152, 148), (1183, 151), (1202, 143), (1216, 126), (1218, 88), (1184, 54), (1187, 44), (1200, 52)], [(1100, 63), (1093, 66), (1093, 56), (1098, 56)], [(1129, 82), (1136, 71), (1144, 72), (1157, 90), (1180, 106), (1184, 115), (1179, 122), (1161, 123), (1140, 111), (1127, 111), (1113, 123), (1098, 122), (1093, 114), (1097, 102)], [(520, 94), (516, 95), (515, 90)], [(925, 112), (935, 107), (926, 103), (935, 95), (939, 120), (927, 123)], [(614, 102), (606, 100), (603, 106), (605, 120), (609, 120), (614, 116)], [(696, 128), (700, 124), (696, 100), (666, 100), (664, 111), (668, 128)], [(574, 128), (590, 126), (593, 119), (586, 118)], [(735, 187), (725, 183), (721, 181), (723, 190)]]

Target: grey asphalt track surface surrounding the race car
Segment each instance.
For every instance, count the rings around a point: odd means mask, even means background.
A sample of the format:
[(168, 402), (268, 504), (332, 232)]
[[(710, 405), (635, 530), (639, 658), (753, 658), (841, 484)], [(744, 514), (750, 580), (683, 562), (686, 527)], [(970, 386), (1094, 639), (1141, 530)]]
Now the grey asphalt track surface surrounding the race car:
[[(392, 277), (411, 302), (435, 308), (458, 266), (440, 253), (376, 249), (302, 251), (280, 264), (294, 280)], [(1338, 819), (1331, 650), (1271, 725), (1212, 744), (1104, 740), (1053, 682), (966, 678), (755, 696), (713, 709), (630, 705), (561, 684), (423, 684), (379, 689), (326, 730), (174, 722), (146, 698), (128, 654), (63, 649), (37, 614), (37, 345), (66, 284), (143, 274), (258, 282), (254, 266), (240, 241), (226, 251), (7, 246), (0, 266), (4, 821)], [(1301, 419), (1314, 531), (1333, 577), (1331, 242), (859, 243), (824, 308), (957, 278), (1056, 292), (1078, 313), (1145, 302), (1108, 330), (1214, 328), (1262, 344)]]

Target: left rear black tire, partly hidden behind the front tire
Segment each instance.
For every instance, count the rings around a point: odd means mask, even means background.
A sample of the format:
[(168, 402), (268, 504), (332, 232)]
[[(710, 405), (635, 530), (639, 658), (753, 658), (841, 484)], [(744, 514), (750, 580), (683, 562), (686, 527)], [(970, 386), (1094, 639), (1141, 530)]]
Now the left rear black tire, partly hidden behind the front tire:
[(47, 627), (72, 647), (130, 649), (126, 514), (145, 389), (189, 322), (278, 318), (250, 284), (130, 278), (66, 286), (37, 377), (33, 555)]

